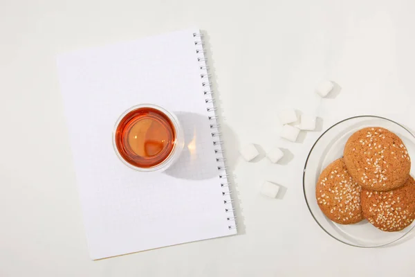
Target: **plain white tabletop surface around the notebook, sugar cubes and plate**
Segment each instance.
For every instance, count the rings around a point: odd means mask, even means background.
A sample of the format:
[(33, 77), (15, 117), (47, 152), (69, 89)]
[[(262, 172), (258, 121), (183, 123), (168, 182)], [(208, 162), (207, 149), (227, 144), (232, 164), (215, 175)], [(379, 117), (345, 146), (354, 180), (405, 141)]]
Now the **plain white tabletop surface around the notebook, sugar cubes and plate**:
[[(3, 0), (0, 7), (0, 276), (413, 276), (414, 239), (357, 249), (317, 226), (302, 170), (321, 132), (304, 132), (303, 143), (280, 140), (277, 111), (316, 112), (323, 129), (356, 114), (415, 129), (414, 1)], [(241, 235), (93, 262), (55, 55), (191, 26), (208, 30)], [(320, 99), (313, 92), (320, 80), (342, 90)], [(286, 165), (243, 163), (237, 148), (250, 142), (277, 144), (293, 157)], [(261, 196), (265, 180), (286, 187), (281, 201)]]

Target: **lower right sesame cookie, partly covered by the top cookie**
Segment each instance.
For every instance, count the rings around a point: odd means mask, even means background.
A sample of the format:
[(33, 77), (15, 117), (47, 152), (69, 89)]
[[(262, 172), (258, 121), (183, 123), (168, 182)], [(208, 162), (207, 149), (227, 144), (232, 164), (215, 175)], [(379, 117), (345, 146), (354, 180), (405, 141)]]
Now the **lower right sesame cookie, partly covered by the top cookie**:
[(361, 202), (363, 216), (376, 228), (388, 232), (405, 229), (415, 219), (414, 178), (389, 191), (362, 188)]

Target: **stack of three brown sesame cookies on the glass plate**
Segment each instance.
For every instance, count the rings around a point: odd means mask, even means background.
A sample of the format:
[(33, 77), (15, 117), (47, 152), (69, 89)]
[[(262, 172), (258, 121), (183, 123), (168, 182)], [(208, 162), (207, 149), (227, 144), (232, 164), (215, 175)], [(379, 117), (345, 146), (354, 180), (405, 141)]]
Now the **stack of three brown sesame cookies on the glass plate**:
[(333, 222), (367, 219), (382, 231), (400, 231), (415, 219), (415, 181), (403, 141), (381, 127), (354, 133), (342, 159), (325, 168), (316, 184), (320, 209)]

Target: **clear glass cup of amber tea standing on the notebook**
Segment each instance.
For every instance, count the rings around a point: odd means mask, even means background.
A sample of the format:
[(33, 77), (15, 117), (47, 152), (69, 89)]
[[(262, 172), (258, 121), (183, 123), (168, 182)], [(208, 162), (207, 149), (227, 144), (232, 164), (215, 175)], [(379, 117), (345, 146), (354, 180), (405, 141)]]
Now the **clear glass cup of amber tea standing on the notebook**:
[(136, 105), (124, 111), (113, 129), (113, 147), (129, 168), (163, 172), (183, 150), (184, 132), (178, 118), (157, 105)]

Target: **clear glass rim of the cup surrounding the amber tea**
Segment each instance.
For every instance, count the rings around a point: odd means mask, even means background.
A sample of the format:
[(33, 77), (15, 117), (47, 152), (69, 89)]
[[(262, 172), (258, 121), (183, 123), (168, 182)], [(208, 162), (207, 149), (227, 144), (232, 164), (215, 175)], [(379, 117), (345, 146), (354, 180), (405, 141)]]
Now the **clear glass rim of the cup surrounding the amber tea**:
[[(131, 111), (134, 111), (136, 109), (141, 109), (141, 108), (151, 108), (151, 109), (157, 109), (158, 111), (161, 111), (163, 114), (165, 114), (169, 120), (172, 121), (173, 126), (174, 126), (174, 131), (176, 132), (176, 139), (173, 145), (173, 149), (172, 151), (169, 153), (169, 156), (162, 161), (161, 163), (159, 163), (156, 166), (152, 166), (151, 168), (140, 168), (138, 166), (134, 166), (131, 163), (129, 163), (128, 161), (126, 161), (122, 155), (120, 154), (120, 151), (117, 148), (117, 143), (116, 143), (116, 133), (117, 133), (117, 129), (118, 129), (118, 125), (120, 125), (121, 120), (127, 116), (127, 114), (129, 114)], [(133, 170), (137, 170), (140, 172), (162, 172), (164, 170), (166, 170), (167, 168), (169, 168), (169, 166), (172, 165), (172, 163), (174, 163), (174, 161), (178, 158), (182, 148), (183, 148), (183, 139), (184, 139), (184, 134), (183, 134), (183, 130), (181, 129), (181, 125), (180, 122), (178, 121), (178, 118), (176, 117), (175, 114), (173, 114), (172, 112), (168, 111), (167, 109), (160, 107), (158, 105), (154, 105), (154, 104), (139, 104), (139, 105), (134, 105), (133, 107), (130, 107), (129, 109), (125, 110), (119, 117), (118, 120), (116, 121), (116, 125), (113, 128), (113, 134), (112, 134), (112, 142), (113, 142), (113, 148), (114, 151), (116, 152), (118, 159), (120, 159), (120, 161), (122, 161), (122, 163), (124, 163), (124, 165), (128, 166), (129, 168), (132, 168)]]

